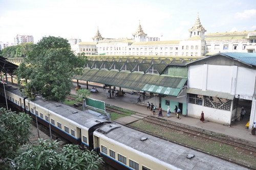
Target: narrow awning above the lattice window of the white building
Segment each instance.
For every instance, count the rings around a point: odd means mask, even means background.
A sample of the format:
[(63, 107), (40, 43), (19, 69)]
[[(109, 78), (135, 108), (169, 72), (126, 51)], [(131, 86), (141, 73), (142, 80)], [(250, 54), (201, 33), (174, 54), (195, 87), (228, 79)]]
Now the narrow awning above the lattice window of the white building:
[(185, 90), (185, 92), (191, 93), (191, 94), (212, 96), (212, 97), (216, 97), (216, 98), (223, 98), (223, 99), (228, 99), (228, 100), (234, 99), (234, 95), (232, 95), (230, 93), (220, 92), (220, 91), (202, 90), (202, 89), (197, 89), (197, 88), (187, 88)]

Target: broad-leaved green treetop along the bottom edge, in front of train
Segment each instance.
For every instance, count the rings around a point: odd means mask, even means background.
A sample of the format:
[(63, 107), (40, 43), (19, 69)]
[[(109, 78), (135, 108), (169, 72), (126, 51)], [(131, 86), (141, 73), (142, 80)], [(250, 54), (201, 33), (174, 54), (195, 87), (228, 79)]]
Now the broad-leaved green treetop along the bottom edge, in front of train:
[(98, 169), (102, 163), (93, 151), (82, 151), (78, 145), (67, 144), (62, 149), (56, 140), (39, 139), (24, 145), (16, 158), (9, 161), (11, 169)]

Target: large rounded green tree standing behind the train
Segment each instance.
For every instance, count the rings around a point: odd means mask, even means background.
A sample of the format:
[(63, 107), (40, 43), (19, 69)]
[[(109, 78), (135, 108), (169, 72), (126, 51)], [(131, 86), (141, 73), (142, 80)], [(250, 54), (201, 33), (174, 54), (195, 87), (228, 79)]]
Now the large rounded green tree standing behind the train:
[[(49, 36), (32, 46), (16, 74), (18, 79), (29, 80), (24, 91), (30, 99), (41, 94), (47, 100), (64, 101), (72, 87), (72, 76), (80, 74), (85, 63), (86, 57), (75, 56), (67, 39)], [(24, 69), (29, 71), (24, 73)]]

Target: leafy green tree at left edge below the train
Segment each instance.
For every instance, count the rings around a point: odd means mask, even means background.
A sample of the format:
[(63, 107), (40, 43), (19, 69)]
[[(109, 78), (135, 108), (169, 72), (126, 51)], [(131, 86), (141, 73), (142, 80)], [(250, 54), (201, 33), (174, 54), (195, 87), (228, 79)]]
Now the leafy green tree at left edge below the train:
[(13, 158), (18, 148), (29, 141), (31, 117), (0, 108), (0, 158)]

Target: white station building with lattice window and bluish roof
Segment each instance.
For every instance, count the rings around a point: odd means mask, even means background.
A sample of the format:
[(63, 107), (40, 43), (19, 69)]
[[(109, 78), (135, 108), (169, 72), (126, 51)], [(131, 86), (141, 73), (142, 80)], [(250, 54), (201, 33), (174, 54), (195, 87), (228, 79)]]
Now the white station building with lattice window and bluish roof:
[(220, 53), (187, 66), (187, 116), (199, 118), (204, 111), (210, 122), (230, 125), (240, 119), (243, 106), (251, 127), (256, 120), (255, 54)]

